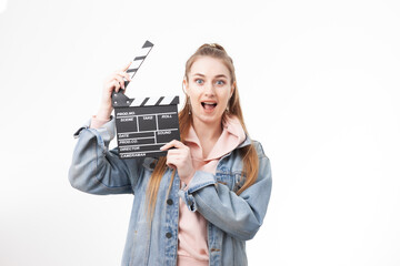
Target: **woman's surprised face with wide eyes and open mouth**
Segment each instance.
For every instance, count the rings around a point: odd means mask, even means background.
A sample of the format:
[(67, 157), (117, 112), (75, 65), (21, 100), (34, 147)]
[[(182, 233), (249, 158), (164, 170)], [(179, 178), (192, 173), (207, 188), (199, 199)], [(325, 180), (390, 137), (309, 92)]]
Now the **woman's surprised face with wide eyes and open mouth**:
[(228, 101), (233, 93), (231, 76), (221, 60), (200, 57), (183, 81), (190, 99), (193, 122), (221, 123)]

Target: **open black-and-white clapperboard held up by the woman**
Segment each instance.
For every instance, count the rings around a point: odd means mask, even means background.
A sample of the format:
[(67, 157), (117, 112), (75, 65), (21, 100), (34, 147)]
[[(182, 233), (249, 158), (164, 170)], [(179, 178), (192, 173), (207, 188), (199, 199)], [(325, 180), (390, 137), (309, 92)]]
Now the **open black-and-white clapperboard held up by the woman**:
[[(146, 41), (141, 54), (127, 70), (132, 79), (151, 51)], [(126, 88), (129, 81), (124, 81)], [(112, 93), (117, 142), (120, 158), (166, 156), (160, 147), (172, 140), (180, 140), (178, 122), (179, 96), (129, 99), (122, 90)]]

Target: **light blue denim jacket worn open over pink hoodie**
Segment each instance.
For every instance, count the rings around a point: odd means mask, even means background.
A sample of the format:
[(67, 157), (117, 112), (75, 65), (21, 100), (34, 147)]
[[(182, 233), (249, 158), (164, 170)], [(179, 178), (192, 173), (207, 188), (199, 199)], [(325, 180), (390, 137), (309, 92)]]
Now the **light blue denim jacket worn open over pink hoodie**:
[[(154, 168), (154, 158), (120, 160), (118, 150), (109, 150), (114, 137), (114, 119), (101, 129), (89, 129), (90, 121), (74, 134), (79, 137), (69, 170), (71, 185), (91, 194), (133, 194), (128, 236), (121, 265), (177, 264), (179, 197), (188, 208), (208, 221), (209, 265), (247, 265), (246, 241), (260, 228), (271, 194), (271, 168), (261, 144), (249, 137), (221, 157), (216, 174), (196, 172), (189, 187), (180, 187), (178, 173), (168, 193), (172, 171), (160, 183), (151, 226), (148, 224), (146, 190)], [(244, 183), (238, 149), (254, 145), (259, 156), (257, 181), (239, 196)]]

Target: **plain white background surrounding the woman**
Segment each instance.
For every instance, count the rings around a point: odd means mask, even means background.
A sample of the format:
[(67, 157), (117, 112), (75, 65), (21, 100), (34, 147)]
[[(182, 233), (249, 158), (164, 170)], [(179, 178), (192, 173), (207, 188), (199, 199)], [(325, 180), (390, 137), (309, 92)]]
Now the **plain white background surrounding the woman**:
[(146, 40), (156, 45), (131, 98), (182, 96), (184, 62), (204, 42), (233, 58), (273, 174), (251, 266), (400, 265), (399, 1), (11, 0), (0, 10), (0, 265), (120, 264), (133, 197), (78, 192), (68, 168), (104, 78)]

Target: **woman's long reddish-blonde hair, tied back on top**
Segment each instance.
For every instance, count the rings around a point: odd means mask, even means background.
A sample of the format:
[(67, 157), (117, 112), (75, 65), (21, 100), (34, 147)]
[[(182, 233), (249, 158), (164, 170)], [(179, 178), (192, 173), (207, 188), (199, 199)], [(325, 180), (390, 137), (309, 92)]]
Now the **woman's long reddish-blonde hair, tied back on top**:
[[(189, 80), (188, 73), (190, 72), (192, 64), (200, 57), (211, 57), (214, 59), (219, 59), (228, 68), (231, 76), (230, 82), (231, 85), (233, 85), (233, 93), (228, 102), (229, 114), (224, 112), (222, 115), (222, 121), (227, 119), (227, 115), (236, 115), (239, 119), (246, 134), (249, 135), (244, 125), (243, 114), (240, 108), (239, 92), (238, 92), (232, 59), (228, 55), (226, 50), (220, 44), (218, 43), (203, 44), (193, 53), (193, 55), (191, 55), (188, 59), (186, 63), (184, 79), (187, 81)], [(190, 115), (190, 103), (188, 95), (186, 95), (184, 105), (182, 110), (179, 112), (178, 117), (179, 117), (179, 130), (180, 130), (181, 141), (184, 142), (189, 129), (193, 123), (192, 116)], [(246, 181), (243, 186), (238, 190), (237, 192), (238, 195), (240, 195), (246, 188), (248, 188), (256, 182), (259, 170), (258, 155), (253, 145), (241, 147), (239, 150), (239, 153), (243, 161), (241, 180), (244, 178), (246, 176)], [(167, 171), (166, 162), (167, 162), (166, 156), (159, 158), (147, 187), (146, 194), (147, 194), (147, 203), (148, 203), (148, 215), (150, 216), (150, 219), (152, 219), (153, 217), (157, 195), (160, 188), (161, 178)], [(176, 174), (176, 170), (172, 172), (168, 192), (170, 192), (171, 190), (174, 174)]]

